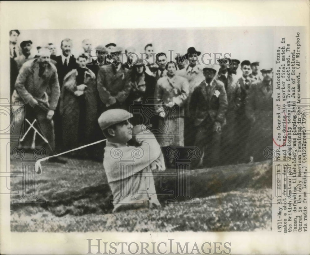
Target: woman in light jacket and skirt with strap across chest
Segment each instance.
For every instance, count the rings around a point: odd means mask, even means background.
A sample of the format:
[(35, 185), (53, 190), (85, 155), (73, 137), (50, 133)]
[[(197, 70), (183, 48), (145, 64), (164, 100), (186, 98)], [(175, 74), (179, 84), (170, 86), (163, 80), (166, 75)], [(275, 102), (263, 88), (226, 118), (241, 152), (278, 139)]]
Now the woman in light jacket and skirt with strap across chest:
[[(157, 139), (164, 151), (170, 146), (184, 146), (184, 106), (189, 89), (187, 79), (175, 75), (177, 67), (174, 62), (168, 62), (166, 70), (167, 76), (160, 78), (155, 87), (156, 110), (161, 117)], [(171, 166), (173, 160), (165, 156), (167, 165)]]

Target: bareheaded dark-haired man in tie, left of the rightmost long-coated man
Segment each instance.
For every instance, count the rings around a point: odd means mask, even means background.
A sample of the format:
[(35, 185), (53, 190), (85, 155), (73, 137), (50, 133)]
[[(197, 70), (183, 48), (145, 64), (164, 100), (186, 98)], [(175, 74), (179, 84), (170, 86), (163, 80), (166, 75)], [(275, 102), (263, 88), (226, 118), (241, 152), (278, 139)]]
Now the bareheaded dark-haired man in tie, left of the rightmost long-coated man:
[(257, 83), (254, 79), (250, 78), (249, 75), (251, 73), (251, 63), (249, 60), (243, 60), (241, 62), (241, 71), (242, 76), (237, 81), (237, 86), (240, 86), (240, 107), (237, 115), (238, 122), (238, 162), (244, 163), (246, 159), (245, 155), (245, 147), (247, 137), (250, 132), (251, 122), (246, 116), (246, 97), (248, 95), (248, 91), (253, 84)]

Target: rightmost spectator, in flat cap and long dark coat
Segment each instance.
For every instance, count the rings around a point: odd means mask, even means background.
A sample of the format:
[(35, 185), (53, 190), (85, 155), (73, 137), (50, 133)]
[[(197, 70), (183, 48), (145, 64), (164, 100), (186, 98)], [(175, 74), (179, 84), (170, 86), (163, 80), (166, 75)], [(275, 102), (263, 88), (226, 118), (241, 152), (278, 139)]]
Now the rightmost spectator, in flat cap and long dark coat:
[(251, 121), (245, 158), (250, 161), (266, 160), (264, 149), (272, 146), (273, 73), (265, 70), (263, 81), (251, 86), (246, 97), (246, 116)]

